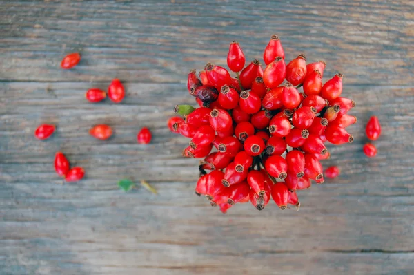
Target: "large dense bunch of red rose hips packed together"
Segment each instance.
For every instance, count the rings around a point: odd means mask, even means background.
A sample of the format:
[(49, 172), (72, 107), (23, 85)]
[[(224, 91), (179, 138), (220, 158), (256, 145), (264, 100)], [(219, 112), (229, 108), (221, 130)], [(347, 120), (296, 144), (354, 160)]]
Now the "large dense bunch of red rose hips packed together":
[(199, 108), (177, 105), (184, 118), (168, 120), (171, 131), (191, 138), (183, 155), (204, 158), (195, 193), (224, 213), (249, 200), (262, 210), (270, 197), (280, 209), (299, 209), (296, 191), (311, 187), (311, 180), (324, 182), (319, 160), (329, 158), (325, 143), (353, 142), (345, 128), (357, 121), (348, 115), (355, 103), (341, 97), (343, 75), (322, 84), (326, 64), (306, 64), (304, 54), (286, 64), (276, 35), (263, 58), (265, 70), (257, 59), (244, 67), (242, 48), (233, 41), (227, 64), (236, 77), (210, 63), (199, 77), (190, 71), (187, 88)]

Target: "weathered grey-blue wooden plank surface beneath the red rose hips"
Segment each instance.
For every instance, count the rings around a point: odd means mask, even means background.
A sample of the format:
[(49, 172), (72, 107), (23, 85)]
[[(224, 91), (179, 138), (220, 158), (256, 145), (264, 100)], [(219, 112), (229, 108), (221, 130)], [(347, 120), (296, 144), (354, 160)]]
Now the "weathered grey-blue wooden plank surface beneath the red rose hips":
[[(302, 2), (1, 1), (0, 274), (414, 274), (414, 3)], [(166, 120), (193, 103), (188, 70), (225, 65), (233, 39), (262, 58), (273, 34), (286, 59), (325, 60), (324, 81), (346, 75), (355, 142), (329, 147), (324, 165), (342, 175), (299, 192), (299, 212), (221, 214), (194, 195), (198, 160), (181, 158), (188, 140)], [(74, 51), (79, 66), (61, 70)], [(86, 102), (114, 77), (124, 102)], [(382, 136), (368, 159), (372, 114)], [(46, 122), (57, 132), (41, 142)], [(100, 123), (115, 129), (106, 142), (88, 135)], [(56, 151), (86, 178), (61, 185)], [(159, 194), (124, 193), (121, 178)]]

